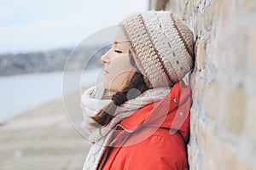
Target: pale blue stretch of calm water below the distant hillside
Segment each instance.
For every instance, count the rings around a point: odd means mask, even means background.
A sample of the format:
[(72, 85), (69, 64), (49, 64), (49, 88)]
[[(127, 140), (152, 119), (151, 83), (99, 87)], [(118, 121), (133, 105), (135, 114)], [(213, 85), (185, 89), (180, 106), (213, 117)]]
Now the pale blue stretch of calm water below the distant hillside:
[[(99, 70), (85, 71), (85, 78), (81, 78), (81, 72), (71, 72), (69, 75), (79, 77), (81, 82), (79, 86), (66, 88), (65, 91), (72, 92), (79, 90), (80, 85), (91, 85), (98, 74)], [(61, 71), (0, 77), (0, 122), (49, 100), (60, 98), (62, 76)]]

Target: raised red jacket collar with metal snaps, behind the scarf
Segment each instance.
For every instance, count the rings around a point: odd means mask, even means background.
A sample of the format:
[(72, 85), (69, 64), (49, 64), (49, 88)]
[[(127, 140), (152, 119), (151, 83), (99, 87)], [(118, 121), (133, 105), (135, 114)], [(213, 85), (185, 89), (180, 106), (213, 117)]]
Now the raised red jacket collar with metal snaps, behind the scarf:
[[(170, 128), (174, 121), (174, 115), (170, 113), (172, 111), (177, 112), (179, 107), (185, 103), (189, 106), (183, 108), (183, 113), (189, 113), (190, 101), (190, 87), (185, 85), (183, 81), (177, 82), (164, 99), (139, 109), (122, 120), (118, 127), (123, 128), (128, 133), (133, 132), (142, 125)], [(179, 127), (181, 127), (181, 124), (176, 128), (178, 129)]]

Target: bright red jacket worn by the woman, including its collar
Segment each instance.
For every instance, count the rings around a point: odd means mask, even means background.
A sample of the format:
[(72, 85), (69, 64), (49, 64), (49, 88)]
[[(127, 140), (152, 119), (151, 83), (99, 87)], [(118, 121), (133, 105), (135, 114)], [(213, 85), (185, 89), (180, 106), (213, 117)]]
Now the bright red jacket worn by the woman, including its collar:
[(118, 125), (99, 169), (188, 169), (190, 88), (177, 82), (165, 99), (147, 105)]

